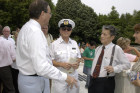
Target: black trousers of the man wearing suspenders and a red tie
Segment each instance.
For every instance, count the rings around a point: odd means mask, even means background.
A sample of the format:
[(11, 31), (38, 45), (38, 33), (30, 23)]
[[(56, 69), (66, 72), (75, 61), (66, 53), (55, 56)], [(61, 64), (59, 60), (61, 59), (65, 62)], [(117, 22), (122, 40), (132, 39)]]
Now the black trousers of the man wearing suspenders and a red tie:
[(90, 77), (88, 93), (114, 93), (115, 79), (114, 77)]

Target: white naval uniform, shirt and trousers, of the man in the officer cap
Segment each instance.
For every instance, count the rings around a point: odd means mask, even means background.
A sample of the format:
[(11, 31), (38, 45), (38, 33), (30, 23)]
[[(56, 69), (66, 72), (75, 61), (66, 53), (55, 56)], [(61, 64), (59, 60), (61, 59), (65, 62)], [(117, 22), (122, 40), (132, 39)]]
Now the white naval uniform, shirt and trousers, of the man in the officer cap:
[[(55, 60), (56, 62), (68, 62), (69, 58), (81, 58), (77, 42), (70, 38), (68, 43), (65, 43), (65, 41), (60, 36), (51, 44), (50, 48), (52, 60)], [(66, 69), (62, 67), (57, 68), (66, 73)], [(78, 81), (77, 71), (67, 74), (74, 77)], [(52, 80), (51, 93), (79, 93), (79, 81), (77, 84), (78, 88), (73, 86), (73, 88), (70, 89), (65, 81)]]

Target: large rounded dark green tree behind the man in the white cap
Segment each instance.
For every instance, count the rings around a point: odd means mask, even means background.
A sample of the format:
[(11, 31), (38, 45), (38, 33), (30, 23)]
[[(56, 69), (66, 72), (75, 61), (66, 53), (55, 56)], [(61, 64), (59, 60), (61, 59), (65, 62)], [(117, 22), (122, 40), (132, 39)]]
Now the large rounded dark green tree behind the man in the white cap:
[(80, 0), (58, 0), (56, 23), (61, 19), (72, 19), (76, 23), (71, 37), (76, 41), (96, 39), (97, 15), (94, 10)]

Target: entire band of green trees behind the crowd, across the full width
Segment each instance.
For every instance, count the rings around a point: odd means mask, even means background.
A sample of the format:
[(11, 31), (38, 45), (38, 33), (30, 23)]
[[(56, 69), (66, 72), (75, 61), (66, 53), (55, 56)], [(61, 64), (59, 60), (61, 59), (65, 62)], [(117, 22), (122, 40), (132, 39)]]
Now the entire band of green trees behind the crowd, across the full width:
[[(0, 24), (10, 26), (12, 30), (22, 27), (29, 20), (28, 7), (33, 0), (0, 0)], [(58, 0), (56, 6), (52, 0), (46, 0), (52, 10), (49, 32), (57, 38), (59, 36), (58, 22), (63, 18), (72, 19), (76, 23), (71, 37), (78, 42), (95, 40), (100, 43), (101, 28), (103, 25), (114, 25), (119, 37), (130, 38), (134, 43), (133, 26), (140, 23), (140, 11), (133, 14), (122, 14), (112, 10), (107, 15), (97, 15), (91, 7), (81, 3), (81, 0)]]

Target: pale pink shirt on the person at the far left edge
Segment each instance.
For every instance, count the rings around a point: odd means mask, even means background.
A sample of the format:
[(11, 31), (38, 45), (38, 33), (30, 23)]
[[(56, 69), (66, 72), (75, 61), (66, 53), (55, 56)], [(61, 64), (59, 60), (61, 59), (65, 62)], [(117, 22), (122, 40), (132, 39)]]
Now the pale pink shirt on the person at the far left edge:
[(9, 66), (16, 59), (12, 43), (0, 37), (0, 67)]

